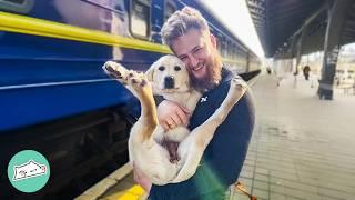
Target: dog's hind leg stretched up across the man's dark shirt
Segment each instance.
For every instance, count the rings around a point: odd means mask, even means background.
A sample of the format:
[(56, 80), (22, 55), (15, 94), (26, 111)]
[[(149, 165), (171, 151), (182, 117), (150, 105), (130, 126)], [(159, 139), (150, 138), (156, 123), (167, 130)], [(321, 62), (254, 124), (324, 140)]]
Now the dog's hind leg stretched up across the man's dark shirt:
[[(212, 140), (216, 128), (225, 120), (233, 106), (243, 97), (247, 84), (240, 79), (233, 79), (226, 98), (220, 108), (201, 126), (196, 127), (190, 136), (181, 143), (184, 160), (181, 170), (173, 182), (181, 182), (192, 177), (200, 163), (206, 146)], [(185, 146), (185, 147), (183, 147)]]

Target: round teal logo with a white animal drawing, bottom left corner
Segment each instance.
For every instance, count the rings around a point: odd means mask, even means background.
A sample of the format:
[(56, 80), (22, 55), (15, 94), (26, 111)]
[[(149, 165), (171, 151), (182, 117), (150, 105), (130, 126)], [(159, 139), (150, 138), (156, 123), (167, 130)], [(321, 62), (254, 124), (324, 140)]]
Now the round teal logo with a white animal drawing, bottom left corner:
[(22, 192), (36, 192), (42, 189), (50, 177), (47, 159), (33, 150), (23, 150), (14, 154), (8, 166), (11, 184)]

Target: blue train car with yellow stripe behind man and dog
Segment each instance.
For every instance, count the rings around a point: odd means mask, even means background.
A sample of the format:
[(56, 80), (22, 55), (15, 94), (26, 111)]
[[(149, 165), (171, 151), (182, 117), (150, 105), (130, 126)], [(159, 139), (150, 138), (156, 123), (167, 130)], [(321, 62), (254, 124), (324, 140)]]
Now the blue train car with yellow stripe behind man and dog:
[(171, 53), (160, 29), (184, 6), (207, 19), (231, 70), (245, 79), (260, 71), (255, 53), (202, 1), (0, 0), (0, 199), (33, 196), (3, 173), (24, 149), (51, 166), (38, 198), (73, 198), (126, 161), (139, 102), (101, 66), (114, 60), (145, 71)]

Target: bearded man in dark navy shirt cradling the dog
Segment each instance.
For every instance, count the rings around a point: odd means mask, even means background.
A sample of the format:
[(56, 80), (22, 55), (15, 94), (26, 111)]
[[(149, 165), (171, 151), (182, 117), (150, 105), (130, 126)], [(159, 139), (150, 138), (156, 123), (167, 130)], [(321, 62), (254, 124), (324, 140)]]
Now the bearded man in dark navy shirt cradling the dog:
[[(201, 13), (185, 7), (172, 14), (162, 28), (163, 42), (185, 64), (192, 86), (203, 92), (194, 113), (171, 101), (158, 108), (160, 123), (165, 129), (189, 124), (192, 130), (203, 123), (222, 103), (230, 80), (235, 77), (223, 68), (216, 39), (210, 33)], [(207, 146), (196, 173), (186, 181), (151, 186), (144, 172), (134, 170), (135, 181), (149, 193), (149, 199), (223, 199), (243, 166), (254, 127), (254, 106), (250, 93), (234, 106)]]

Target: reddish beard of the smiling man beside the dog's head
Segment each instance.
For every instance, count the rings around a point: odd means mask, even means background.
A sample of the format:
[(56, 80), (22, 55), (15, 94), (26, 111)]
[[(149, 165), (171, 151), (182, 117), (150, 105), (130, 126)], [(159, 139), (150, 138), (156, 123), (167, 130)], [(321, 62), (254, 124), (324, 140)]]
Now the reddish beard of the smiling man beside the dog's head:
[(195, 78), (193, 73), (190, 72), (191, 86), (201, 92), (209, 91), (214, 87), (219, 86), (221, 81), (221, 70), (222, 70), (222, 59), (220, 54), (213, 57), (213, 60), (206, 61), (205, 68), (207, 70), (206, 74), (200, 79)]

